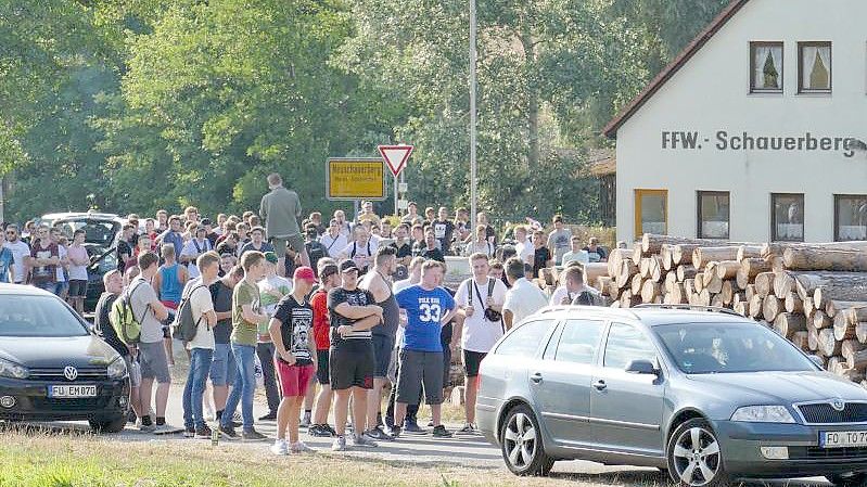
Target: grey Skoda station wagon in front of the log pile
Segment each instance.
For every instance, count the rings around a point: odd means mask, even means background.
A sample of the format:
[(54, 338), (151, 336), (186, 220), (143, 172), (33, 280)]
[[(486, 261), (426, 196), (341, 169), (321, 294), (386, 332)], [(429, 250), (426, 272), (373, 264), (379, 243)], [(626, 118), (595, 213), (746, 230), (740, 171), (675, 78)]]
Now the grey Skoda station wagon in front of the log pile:
[(583, 459), (685, 486), (867, 477), (867, 390), (717, 308), (546, 308), (482, 363), (479, 428), (518, 475)]

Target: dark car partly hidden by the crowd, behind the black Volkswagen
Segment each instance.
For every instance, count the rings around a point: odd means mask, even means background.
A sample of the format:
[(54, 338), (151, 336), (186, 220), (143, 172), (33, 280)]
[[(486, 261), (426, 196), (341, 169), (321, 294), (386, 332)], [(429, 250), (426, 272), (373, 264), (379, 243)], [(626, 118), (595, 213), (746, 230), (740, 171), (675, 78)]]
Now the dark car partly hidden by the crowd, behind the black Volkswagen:
[(105, 289), (102, 277), (117, 268), (114, 251), (124, 220), (113, 214), (79, 212), (44, 215), (39, 222), (60, 228), (69, 240), (76, 230), (85, 231), (85, 247), (90, 256), (85, 310), (92, 311)]

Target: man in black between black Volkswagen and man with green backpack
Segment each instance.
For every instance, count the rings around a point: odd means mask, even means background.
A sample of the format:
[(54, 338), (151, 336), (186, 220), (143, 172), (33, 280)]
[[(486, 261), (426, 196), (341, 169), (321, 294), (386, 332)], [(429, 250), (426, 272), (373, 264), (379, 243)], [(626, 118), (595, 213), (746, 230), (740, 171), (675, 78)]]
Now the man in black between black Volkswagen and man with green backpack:
[(139, 368), (136, 350), (128, 347), (117, 336), (117, 332), (110, 322), (109, 317), (112, 313), (112, 305), (117, 296), (124, 292), (124, 275), (118, 270), (110, 270), (102, 277), (102, 283), (105, 285), (105, 292), (100, 296), (97, 302), (97, 309), (93, 316), (93, 325), (97, 333), (112, 348), (114, 348), (127, 364), (129, 371), (130, 383), (130, 406), (137, 416), (141, 418), (141, 406), (139, 402), (139, 387), (141, 386), (141, 369)]

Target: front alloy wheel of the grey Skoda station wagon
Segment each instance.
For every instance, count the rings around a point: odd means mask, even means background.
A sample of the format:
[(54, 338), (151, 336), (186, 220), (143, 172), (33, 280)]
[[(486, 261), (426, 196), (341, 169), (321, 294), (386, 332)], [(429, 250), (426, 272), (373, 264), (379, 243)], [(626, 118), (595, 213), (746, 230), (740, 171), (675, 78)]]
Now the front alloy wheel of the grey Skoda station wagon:
[(725, 484), (719, 441), (704, 420), (677, 427), (668, 445), (668, 465), (672, 477), (684, 486)]

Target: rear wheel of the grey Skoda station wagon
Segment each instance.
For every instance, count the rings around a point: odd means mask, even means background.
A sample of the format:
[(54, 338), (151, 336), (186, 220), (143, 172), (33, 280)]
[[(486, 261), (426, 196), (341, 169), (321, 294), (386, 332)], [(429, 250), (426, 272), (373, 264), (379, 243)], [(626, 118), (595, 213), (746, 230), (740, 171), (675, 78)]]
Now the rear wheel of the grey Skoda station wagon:
[(506, 465), (517, 475), (548, 475), (553, 460), (545, 453), (541, 433), (533, 411), (517, 406), (506, 416), (500, 445)]

